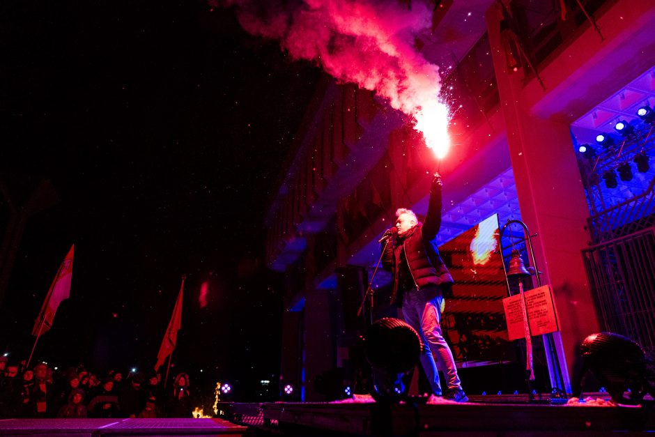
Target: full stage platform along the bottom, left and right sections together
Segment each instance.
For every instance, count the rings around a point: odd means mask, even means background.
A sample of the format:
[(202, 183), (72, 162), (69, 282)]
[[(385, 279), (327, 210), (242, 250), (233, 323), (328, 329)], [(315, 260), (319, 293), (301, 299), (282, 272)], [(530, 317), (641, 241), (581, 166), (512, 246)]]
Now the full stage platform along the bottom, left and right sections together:
[[(480, 399), (484, 398), (484, 399)], [(655, 432), (655, 406), (517, 403), (474, 397), (466, 404), (218, 404), (214, 419), (6, 419), (0, 436), (606, 436)]]

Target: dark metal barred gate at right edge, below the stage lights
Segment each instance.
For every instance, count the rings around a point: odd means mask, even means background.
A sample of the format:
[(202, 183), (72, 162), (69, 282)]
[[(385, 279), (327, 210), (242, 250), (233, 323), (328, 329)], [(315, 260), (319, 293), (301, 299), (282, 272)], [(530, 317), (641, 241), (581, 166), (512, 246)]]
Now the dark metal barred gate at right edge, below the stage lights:
[(655, 227), (583, 250), (603, 330), (655, 351)]

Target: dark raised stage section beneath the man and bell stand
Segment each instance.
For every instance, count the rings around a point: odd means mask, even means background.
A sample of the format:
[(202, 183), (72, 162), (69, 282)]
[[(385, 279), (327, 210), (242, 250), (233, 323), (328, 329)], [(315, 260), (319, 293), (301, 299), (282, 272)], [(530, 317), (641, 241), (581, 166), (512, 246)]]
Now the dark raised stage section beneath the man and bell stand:
[[(491, 400), (491, 397), (486, 399)], [(224, 417), (284, 436), (569, 436), (655, 431), (655, 408), (508, 404), (220, 404)]]

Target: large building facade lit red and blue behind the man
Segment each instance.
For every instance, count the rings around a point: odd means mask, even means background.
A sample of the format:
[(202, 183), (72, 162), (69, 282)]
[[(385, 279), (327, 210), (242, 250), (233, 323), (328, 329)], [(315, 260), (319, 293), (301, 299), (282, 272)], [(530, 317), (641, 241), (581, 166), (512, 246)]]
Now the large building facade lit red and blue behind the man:
[[(655, 295), (655, 281), (644, 273), (655, 247), (649, 243), (653, 170), (635, 171), (607, 194), (612, 189), (599, 166), (613, 172), (640, 154), (654, 155), (652, 139), (640, 134), (649, 134), (651, 122), (635, 110), (654, 104), (655, 6), (631, 0), (582, 1), (582, 8), (575, 1), (437, 3), (431, 33), (419, 38), (423, 56), (440, 66), (442, 98), (457, 108), (449, 155), (436, 160), (411, 121), (371, 91), (326, 76), (272, 199), (267, 262), (286, 273), (280, 382), (296, 388), (293, 399), (334, 399), (356, 384), (362, 329), (371, 319), (395, 315), (387, 302), (390, 277), (378, 270), (373, 309), (366, 302), (357, 316), (378, 261), (378, 238), (394, 224), (396, 208), (425, 213), (428, 175), (436, 169), (445, 181), (438, 243), (493, 214), (501, 226), (522, 220), (537, 234), (534, 256), (560, 321), (544, 344), (545, 387), (570, 391), (578, 346), (593, 332), (624, 330), (619, 333), (653, 346), (647, 332), (655, 305), (647, 296)], [(470, 22), (463, 24), (463, 17)], [(459, 36), (446, 44), (446, 35)], [(610, 148), (590, 146), (599, 158), (586, 168), (580, 146), (626, 116), (637, 134), (618, 136)], [(638, 266), (633, 281), (640, 284), (631, 309), (642, 319), (631, 324), (633, 315), (621, 303), (631, 292), (594, 271), (617, 270), (607, 259), (617, 234), (599, 236), (596, 224), (607, 224), (609, 210), (614, 217), (634, 209), (635, 199), (640, 212), (611, 227), (632, 223), (621, 237), (646, 235), (634, 259), (625, 261)], [(610, 314), (603, 299), (612, 296), (621, 302)]]

